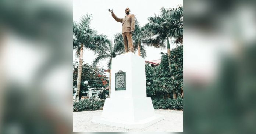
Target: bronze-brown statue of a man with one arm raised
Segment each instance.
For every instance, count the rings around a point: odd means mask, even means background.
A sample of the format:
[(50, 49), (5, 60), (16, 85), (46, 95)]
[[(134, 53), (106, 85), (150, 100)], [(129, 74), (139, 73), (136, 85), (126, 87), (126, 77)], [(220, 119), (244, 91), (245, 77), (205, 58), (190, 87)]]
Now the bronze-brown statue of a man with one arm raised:
[(129, 8), (125, 9), (126, 16), (124, 18), (118, 18), (115, 16), (113, 9), (109, 12), (112, 13), (112, 17), (117, 21), (122, 23), (122, 36), (124, 39), (124, 53), (126, 52), (134, 52), (133, 44), (132, 44), (132, 32), (134, 32), (135, 28), (135, 17), (134, 14), (130, 14), (131, 10)]

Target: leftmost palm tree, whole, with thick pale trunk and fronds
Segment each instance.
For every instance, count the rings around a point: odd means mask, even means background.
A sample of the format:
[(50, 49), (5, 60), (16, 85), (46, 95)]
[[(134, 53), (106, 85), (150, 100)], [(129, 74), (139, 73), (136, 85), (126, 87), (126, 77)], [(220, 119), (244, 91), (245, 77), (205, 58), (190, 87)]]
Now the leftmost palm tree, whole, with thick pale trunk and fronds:
[(73, 22), (73, 49), (76, 50), (76, 57), (79, 57), (78, 75), (77, 75), (77, 96), (79, 102), (79, 92), (81, 84), (81, 73), (83, 64), (83, 49), (95, 51), (96, 48), (106, 40), (106, 36), (98, 35), (95, 29), (90, 28), (92, 15), (83, 15), (79, 23)]

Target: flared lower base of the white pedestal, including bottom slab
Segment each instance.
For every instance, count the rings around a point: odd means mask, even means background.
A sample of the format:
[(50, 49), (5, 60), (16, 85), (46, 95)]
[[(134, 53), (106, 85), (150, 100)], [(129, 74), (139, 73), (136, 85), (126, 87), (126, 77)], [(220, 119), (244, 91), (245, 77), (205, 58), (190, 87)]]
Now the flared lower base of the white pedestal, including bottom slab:
[(155, 114), (150, 97), (106, 98), (102, 115), (93, 117), (92, 122), (126, 129), (148, 127), (164, 116)]

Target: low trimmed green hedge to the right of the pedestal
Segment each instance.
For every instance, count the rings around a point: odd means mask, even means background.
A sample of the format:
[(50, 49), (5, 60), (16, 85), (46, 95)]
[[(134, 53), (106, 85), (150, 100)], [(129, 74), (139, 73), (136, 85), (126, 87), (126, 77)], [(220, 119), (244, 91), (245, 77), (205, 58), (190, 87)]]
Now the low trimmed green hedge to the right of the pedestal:
[(152, 99), (154, 109), (183, 109), (183, 98)]

